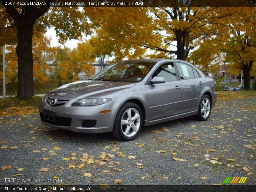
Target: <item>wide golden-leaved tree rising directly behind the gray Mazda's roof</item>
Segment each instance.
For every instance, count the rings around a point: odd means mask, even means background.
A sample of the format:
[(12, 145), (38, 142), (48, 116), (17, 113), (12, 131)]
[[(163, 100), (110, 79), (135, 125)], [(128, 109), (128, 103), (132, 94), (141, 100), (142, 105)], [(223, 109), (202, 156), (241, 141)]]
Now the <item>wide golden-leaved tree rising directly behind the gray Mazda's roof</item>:
[(98, 35), (92, 41), (98, 53), (113, 54), (121, 60), (145, 57), (150, 49), (155, 52), (149, 57), (186, 60), (197, 40), (216, 35), (232, 12), (229, 8), (190, 7), (190, 1), (174, 0), (168, 5), (87, 10), (95, 14), (89, 17), (97, 27)]

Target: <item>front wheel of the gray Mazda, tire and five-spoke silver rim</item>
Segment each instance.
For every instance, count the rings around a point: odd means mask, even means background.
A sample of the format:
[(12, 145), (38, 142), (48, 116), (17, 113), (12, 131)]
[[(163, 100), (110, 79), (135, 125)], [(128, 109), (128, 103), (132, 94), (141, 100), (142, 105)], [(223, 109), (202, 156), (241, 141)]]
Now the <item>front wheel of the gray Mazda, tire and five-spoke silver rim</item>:
[(127, 102), (116, 114), (112, 135), (119, 140), (131, 141), (140, 133), (142, 126), (143, 115), (140, 107)]

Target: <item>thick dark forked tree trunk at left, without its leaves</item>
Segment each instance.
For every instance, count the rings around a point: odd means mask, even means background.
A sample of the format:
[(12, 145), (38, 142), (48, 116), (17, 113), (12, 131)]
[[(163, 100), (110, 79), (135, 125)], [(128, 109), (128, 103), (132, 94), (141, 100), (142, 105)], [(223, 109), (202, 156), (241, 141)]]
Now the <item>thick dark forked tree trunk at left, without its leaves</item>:
[[(4, 1), (2, 0), (4, 3)], [(9, 0), (10, 2), (10, 0)], [(36, 2), (35, 0), (27, 1)], [(6, 6), (6, 12), (10, 14), (17, 27), (18, 45), (16, 53), (18, 56), (18, 97), (32, 97), (33, 90), (33, 54), (32, 36), (33, 26), (36, 19), (48, 11), (49, 0), (45, 0), (46, 6), (37, 8), (36, 6), (23, 6), (18, 12), (14, 6)]]

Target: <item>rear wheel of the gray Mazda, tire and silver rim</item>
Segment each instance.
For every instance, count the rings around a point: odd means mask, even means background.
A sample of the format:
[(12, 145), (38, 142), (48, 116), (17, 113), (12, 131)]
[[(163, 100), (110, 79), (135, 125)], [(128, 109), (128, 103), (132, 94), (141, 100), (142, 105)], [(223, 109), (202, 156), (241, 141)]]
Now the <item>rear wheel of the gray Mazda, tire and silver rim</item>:
[[(205, 104), (207, 108), (205, 108)], [(199, 102), (198, 112), (195, 118), (199, 121), (206, 121), (211, 115), (212, 101), (208, 95), (204, 95)]]

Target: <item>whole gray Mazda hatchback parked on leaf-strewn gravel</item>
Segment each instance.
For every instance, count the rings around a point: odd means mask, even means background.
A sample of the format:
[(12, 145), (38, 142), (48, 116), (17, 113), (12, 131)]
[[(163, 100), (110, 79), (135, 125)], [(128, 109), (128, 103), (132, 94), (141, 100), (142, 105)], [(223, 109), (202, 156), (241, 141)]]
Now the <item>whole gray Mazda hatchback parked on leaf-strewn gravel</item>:
[(205, 121), (216, 99), (213, 79), (185, 61), (127, 60), (48, 92), (39, 112), (51, 127), (133, 140), (143, 126), (187, 116)]

